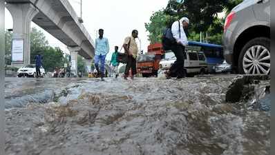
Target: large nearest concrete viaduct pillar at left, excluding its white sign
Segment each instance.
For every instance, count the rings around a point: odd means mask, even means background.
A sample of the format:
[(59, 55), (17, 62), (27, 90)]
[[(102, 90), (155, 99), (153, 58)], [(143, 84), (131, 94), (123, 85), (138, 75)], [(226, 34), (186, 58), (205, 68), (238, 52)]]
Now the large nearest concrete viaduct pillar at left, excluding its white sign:
[(39, 12), (31, 3), (7, 3), (6, 8), (12, 14), (12, 39), (23, 39), (23, 62), (12, 62), (21, 67), (30, 64), (30, 22)]

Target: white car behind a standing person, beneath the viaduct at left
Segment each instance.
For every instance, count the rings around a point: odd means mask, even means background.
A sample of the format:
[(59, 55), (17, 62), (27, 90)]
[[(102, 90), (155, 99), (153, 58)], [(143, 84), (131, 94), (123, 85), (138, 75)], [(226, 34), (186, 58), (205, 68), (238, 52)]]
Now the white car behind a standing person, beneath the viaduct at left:
[[(40, 73), (41, 73), (42, 77), (45, 76), (45, 70), (42, 66), (40, 68)], [(18, 77), (21, 77), (21, 76), (35, 77), (36, 76), (35, 65), (33, 65), (33, 64), (25, 65), (25, 66), (19, 68), (19, 70), (17, 71), (17, 76)]]

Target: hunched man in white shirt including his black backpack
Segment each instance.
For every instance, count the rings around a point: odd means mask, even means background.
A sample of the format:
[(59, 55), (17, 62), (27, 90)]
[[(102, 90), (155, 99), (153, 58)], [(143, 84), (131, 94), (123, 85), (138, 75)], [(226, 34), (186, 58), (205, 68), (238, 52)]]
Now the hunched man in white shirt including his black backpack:
[(180, 21), (175, 21), (171, 25), (171, 28), (166, 28), (162, 36), (162, 45), (164, 50), (172, 50), (177, 60), (168, 72), (165, 72), (167, 79), (170, 79), (172, 75), (176, 75), (177, 79), (182, 79), (186, 76), (184, 70), (184, 52), (185, 46), (188, 45), (187, 36), (184, 29), (189, 25), (189, 19), (182, 17)]

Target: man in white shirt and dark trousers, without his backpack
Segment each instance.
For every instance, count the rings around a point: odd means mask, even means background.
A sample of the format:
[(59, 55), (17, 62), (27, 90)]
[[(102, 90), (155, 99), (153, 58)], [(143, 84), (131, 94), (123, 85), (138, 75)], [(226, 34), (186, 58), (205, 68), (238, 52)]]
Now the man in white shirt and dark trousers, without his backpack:
[(187, 19), (187, 17), (182, 17), (180, 21), (175, 21), (171, 27), (173, 38), (176, 39), (177, 42), (173, 45), (171, 50), (175, 54), (177, 60), (166, 73), (167, 79), (171, 78), (172, 75), (176, 75), (177, 79), (182, 79), (186, 76), (186, 72), (184, 70), (184, 52), (185, 46), (188, 45), (188, 41), (184, 28), (187, 28), (188, 25), (189, 19)]

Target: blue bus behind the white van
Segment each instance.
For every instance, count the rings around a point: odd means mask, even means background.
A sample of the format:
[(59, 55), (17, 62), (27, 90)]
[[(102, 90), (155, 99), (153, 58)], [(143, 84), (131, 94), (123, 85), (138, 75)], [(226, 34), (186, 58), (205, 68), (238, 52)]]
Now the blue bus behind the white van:
[(200, 51), (205, 53), (208, 64), (208, 72), (215, 72), (213, 67), (225, 60), (223, 57), (223, 48), (221, 45), (200, 43), (196, 41), (188, 41), (188, 45), (200, 47)]

